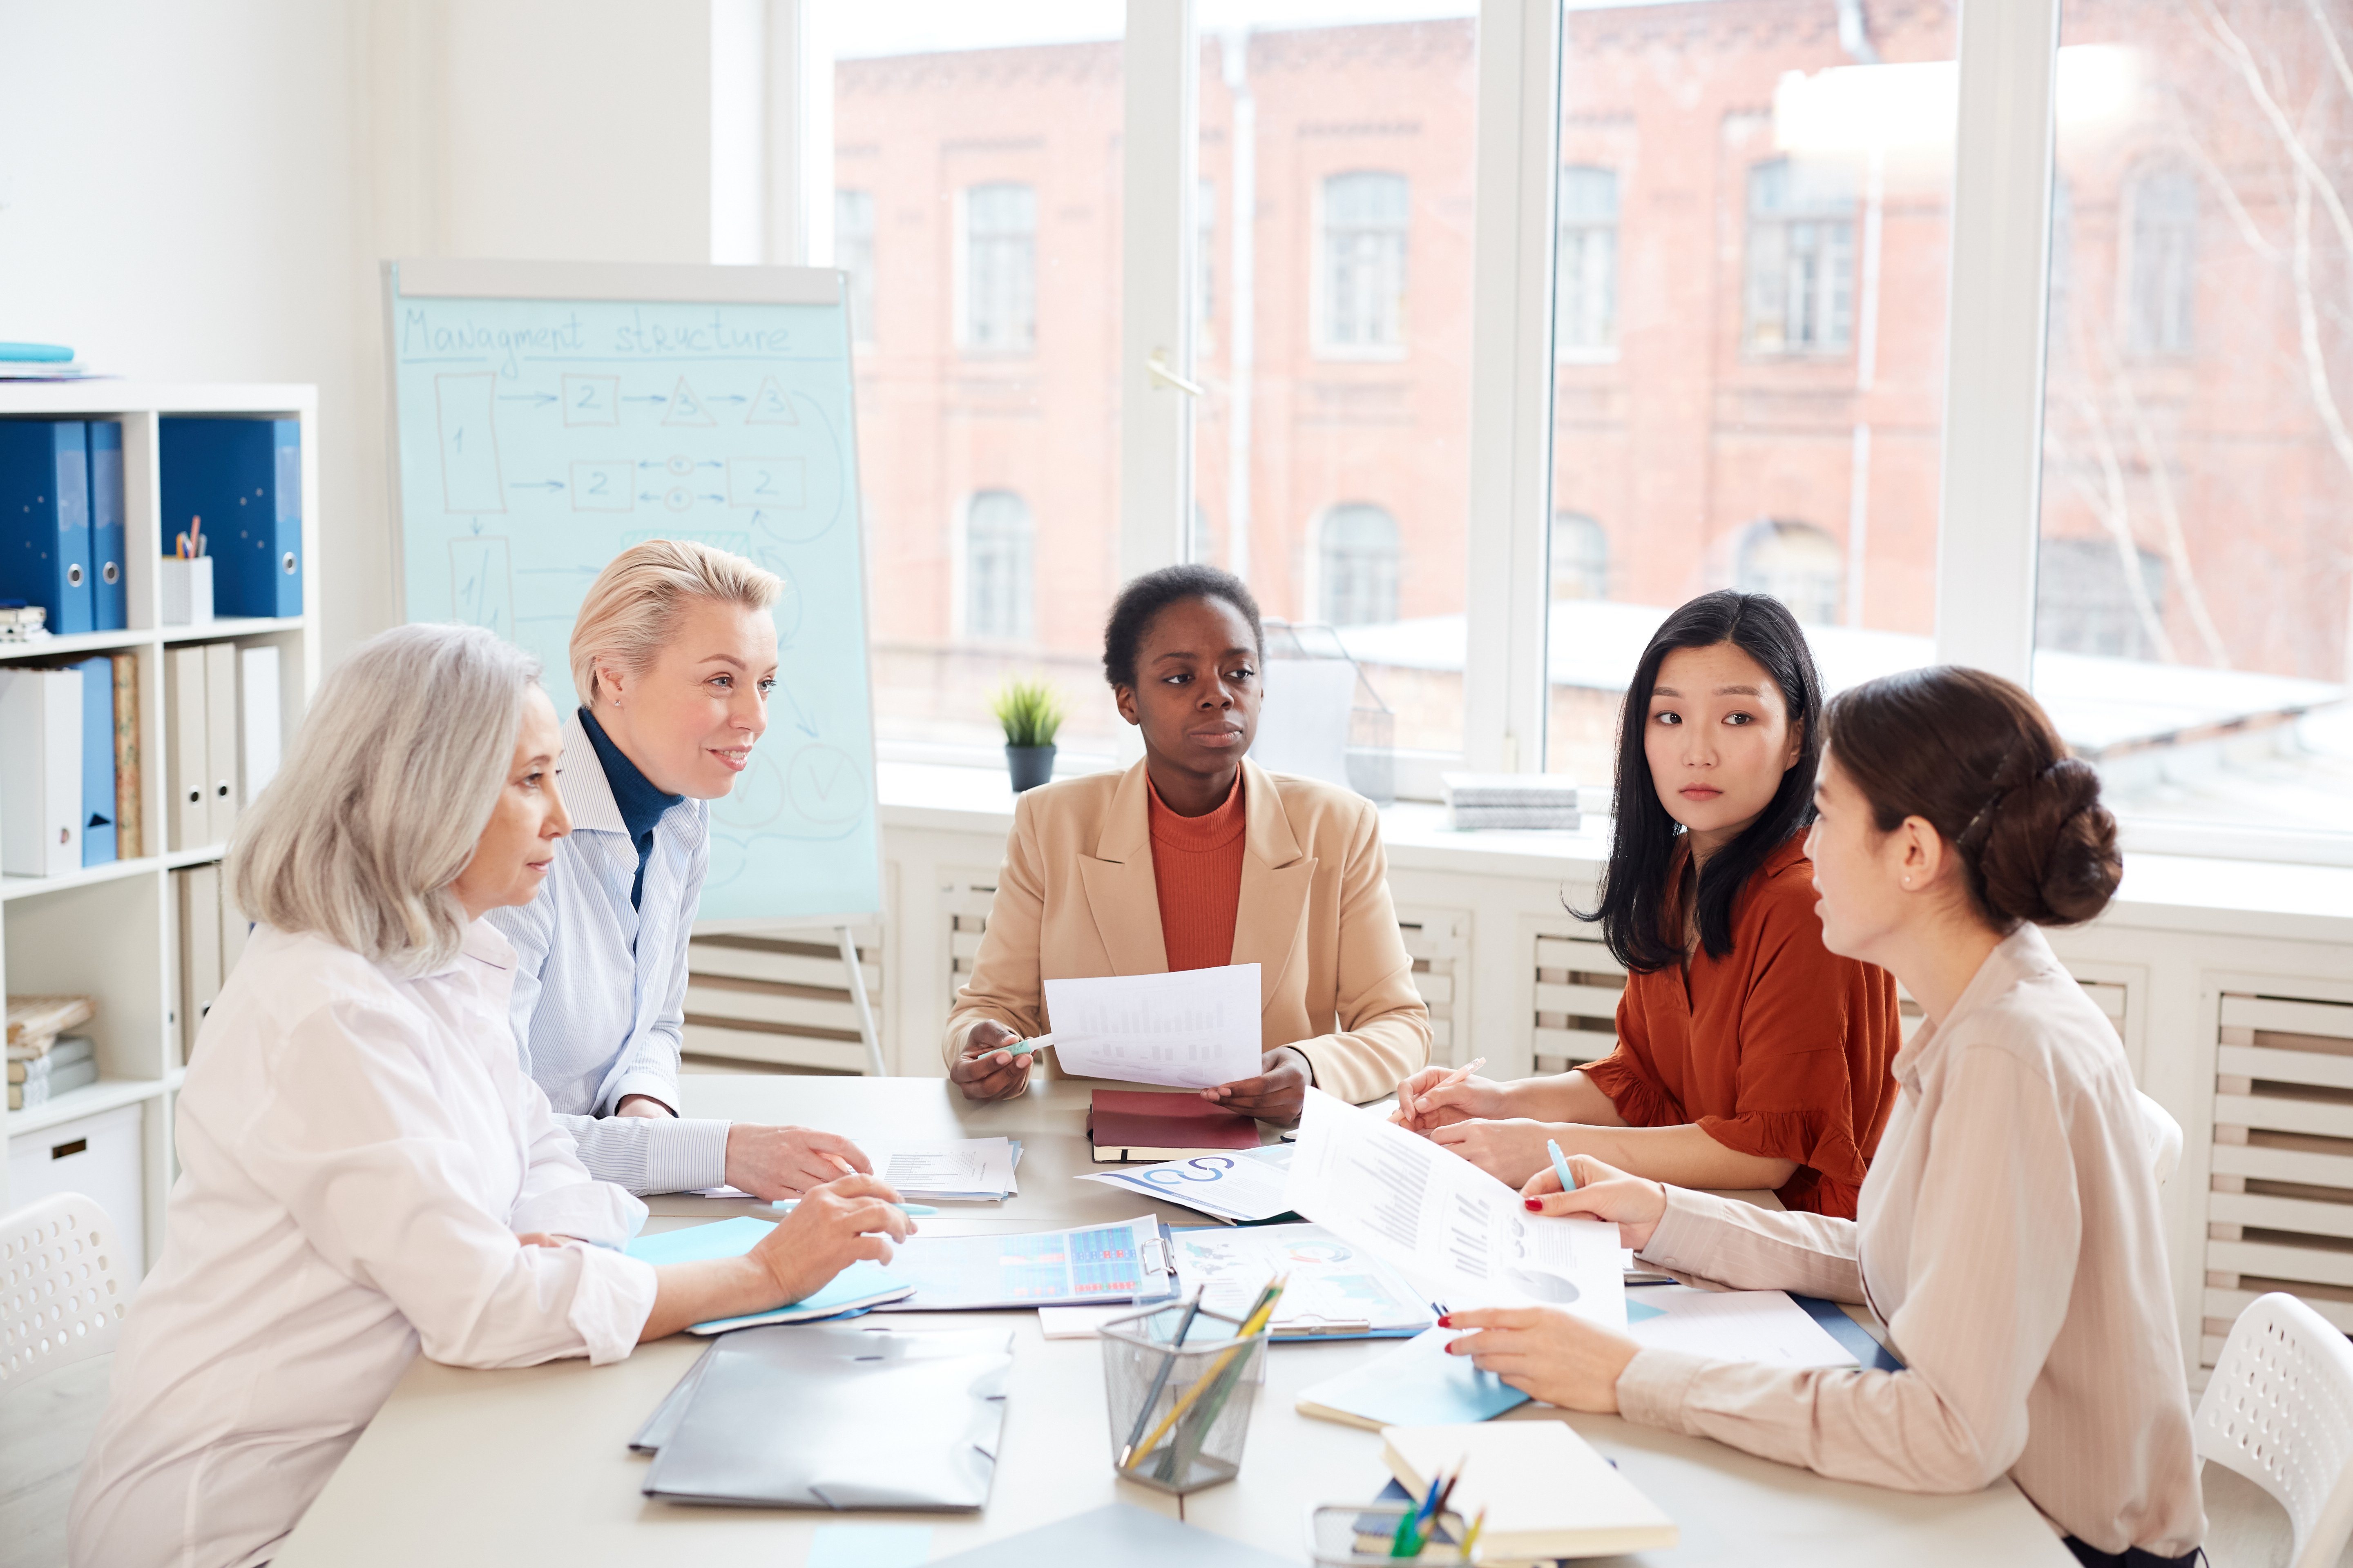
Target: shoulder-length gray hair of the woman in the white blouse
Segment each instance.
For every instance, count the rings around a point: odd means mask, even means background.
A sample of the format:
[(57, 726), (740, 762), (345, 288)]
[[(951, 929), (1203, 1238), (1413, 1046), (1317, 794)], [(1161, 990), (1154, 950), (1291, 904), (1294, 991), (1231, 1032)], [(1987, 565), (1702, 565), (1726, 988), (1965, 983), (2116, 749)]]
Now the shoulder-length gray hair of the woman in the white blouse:
[(228, 849), (231, 896), (398, 973), (456, 957), (466, 870), (539, 661), (478, 625), (400, 625), (320, 684), (294, 755)]

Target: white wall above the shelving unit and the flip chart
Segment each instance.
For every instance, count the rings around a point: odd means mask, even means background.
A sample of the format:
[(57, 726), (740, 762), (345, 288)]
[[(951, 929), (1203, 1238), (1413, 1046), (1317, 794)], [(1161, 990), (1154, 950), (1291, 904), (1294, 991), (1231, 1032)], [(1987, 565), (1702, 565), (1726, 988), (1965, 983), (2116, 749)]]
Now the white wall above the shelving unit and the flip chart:
[(711, 259), (708, 0), (0, 0), (0, 339), (320, 388), (325, 651), (393, 621), (379, 259)]

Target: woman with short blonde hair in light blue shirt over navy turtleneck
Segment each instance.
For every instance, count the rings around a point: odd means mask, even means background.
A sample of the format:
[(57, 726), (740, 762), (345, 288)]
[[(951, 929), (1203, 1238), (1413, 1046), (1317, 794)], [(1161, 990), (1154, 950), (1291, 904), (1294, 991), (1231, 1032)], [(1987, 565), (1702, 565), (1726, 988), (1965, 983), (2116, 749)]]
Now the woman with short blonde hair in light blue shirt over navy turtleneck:
[(588, 1173), (631, 1192), (732, 1182), (795, 1197), (873, 1166), (847, 1138), (678, 1117), (687, 938), (711, 802), (767, 731), (784, 585), (741, 555), (654, 538), (616, 555), (572, 623), (558, 766), (572, 837), (546, 891), (499, 910), (515, 945), (515, 1041)]

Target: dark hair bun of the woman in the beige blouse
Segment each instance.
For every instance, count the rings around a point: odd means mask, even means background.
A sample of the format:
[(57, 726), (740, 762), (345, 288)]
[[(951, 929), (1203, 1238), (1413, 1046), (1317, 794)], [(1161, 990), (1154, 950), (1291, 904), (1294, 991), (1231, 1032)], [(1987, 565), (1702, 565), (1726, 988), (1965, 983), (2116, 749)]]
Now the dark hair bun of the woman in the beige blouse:
[(2005, 922), (2073, 926), (2108, 907), (2125, 860), (2115, 818), (2099, 804), (2099, 771), (2075, 757), (2012, 785), (1988, 813), (1979, 875)]

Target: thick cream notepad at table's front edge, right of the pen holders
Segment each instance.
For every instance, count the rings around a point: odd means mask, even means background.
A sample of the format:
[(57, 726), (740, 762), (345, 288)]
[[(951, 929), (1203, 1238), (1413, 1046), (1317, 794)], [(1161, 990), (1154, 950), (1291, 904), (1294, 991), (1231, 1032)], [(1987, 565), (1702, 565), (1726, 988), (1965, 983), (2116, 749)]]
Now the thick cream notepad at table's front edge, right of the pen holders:
[(1680, 1540), (1675, 1521), (1565, 1422), (1388, 1427), (1381, 1439), (1381, 1460), (1417, 1497), (1431, 1476), (1461, 1474), (1447, 1512), (1487, 1514), (1482, 1561), (1664, 1552)]

